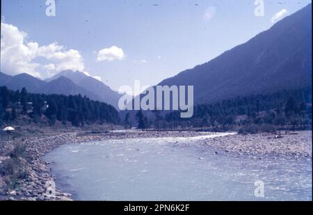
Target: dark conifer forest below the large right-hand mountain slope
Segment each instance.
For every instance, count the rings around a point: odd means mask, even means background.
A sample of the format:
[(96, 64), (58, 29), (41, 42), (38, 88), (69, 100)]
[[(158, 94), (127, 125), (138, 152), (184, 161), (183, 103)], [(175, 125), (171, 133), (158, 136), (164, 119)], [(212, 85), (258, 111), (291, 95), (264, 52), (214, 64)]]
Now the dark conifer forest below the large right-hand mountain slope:
[(152, 111), (154, 119), (147, 119), (145, 111), (136, 114), (138, 128), (175, 129), (181, 127), (234, 127), (244, 125), (304, 126), (312, 124), (312, 88), (279, 90), (225, 99), (220, 102), (194, 106), (192, 118), (180, 118), (179, 111)]

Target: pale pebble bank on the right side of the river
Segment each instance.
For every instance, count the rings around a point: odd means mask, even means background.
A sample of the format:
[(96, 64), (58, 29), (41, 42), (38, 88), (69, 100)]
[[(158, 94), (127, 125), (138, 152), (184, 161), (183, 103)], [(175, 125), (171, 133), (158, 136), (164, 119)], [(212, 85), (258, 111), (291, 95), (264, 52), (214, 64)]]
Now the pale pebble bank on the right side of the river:
[(233, 152), (239, 156), (249, 155), (262, 159), (264, 156), (312, 158), (312, 131), (229, 135), (207, 138), (204, 145)]

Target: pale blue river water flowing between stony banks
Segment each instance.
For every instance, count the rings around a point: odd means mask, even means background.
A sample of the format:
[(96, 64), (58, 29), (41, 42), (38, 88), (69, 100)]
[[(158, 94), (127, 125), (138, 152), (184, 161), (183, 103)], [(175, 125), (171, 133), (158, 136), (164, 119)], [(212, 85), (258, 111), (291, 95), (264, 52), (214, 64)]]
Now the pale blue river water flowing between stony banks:
[(220, 135), (67, 144), (45, 160), (75, 200), (312, 200), (311, 159), (237, 157), (198, 144)]

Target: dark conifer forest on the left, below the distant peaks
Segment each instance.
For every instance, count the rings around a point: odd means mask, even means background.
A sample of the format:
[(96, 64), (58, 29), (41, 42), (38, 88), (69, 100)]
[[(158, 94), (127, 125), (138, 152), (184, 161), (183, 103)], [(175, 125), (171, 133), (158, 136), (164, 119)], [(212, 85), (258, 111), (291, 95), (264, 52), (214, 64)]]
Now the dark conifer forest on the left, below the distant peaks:
[(19, 116), (29, 116), (33, 122), (42, 122), (42, 116), (47, 118), (49, 125), (56, 120), (74, 126), (92, 123), (120, 123), (116, 109), (104, 102), (90, 100), (79, 95), (45, 95), (8, 90), (0, 87), (0, 123), (14, 122)]

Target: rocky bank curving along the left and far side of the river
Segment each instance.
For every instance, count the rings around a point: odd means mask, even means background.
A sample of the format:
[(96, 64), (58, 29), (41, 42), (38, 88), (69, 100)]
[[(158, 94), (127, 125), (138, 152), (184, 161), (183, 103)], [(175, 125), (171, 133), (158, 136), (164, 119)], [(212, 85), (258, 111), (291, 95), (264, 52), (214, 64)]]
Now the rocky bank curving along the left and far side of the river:
[[(42, 156), (65, 143), (83, 143), (106, 139), (187, 137), (203, 135), (200, 132), (68, 132), (15, 138), (0, 142), (0, 200), (71, 200), (69, 193), (56, 189), (49, 193), (54, 182), (49, 163)], [(17, 146), (23, 148), (21, 157), (13, 153)], [(8, 172), (4, 174), (1, 172)], [(12, 175), (17, 175), (17, 178)], [(1, 176), (2, 175), (2, 176)], [(22, 177), (21, 177), (22, 175)], [(54, 195), (51, 195), (54, 194)]]

